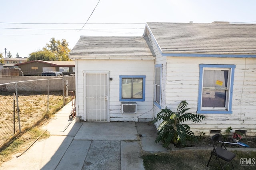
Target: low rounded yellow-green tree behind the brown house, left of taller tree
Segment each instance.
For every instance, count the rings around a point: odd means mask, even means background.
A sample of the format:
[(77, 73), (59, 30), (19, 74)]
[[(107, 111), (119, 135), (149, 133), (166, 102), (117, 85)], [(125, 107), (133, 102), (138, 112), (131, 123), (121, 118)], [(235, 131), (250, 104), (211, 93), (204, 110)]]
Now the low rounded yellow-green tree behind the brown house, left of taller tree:
[(29, 55), (28, 61), (33, 61), (37, 59), (43, 61), (55, 61), (55, 55), (48, 50), (36, 51)]

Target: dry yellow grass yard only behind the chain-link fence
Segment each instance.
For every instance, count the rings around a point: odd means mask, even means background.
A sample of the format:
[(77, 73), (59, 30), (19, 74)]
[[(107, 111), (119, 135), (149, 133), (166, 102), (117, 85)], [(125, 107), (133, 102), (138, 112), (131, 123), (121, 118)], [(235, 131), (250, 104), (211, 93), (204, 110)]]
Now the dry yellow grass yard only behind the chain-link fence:
[[(19, 134), (18, 112), (15, 107), (15, 133), (14, 133), (14, 115), (13, 115), (13, 96), (0, 95), (0, 146), (9, 142), (14, 136)], [(49, 112), (47, 111), (47, 95), (19, 95), (19, 115), (21, 132), (37, 125), (44, 119), (48, 119), (52, 113), (58, 111), (63, 105), (62, 94), (49, 95)], [(17, 101), (15, 101), (17, 103)], [(15, 103), (15, 105), (16, 105)]]

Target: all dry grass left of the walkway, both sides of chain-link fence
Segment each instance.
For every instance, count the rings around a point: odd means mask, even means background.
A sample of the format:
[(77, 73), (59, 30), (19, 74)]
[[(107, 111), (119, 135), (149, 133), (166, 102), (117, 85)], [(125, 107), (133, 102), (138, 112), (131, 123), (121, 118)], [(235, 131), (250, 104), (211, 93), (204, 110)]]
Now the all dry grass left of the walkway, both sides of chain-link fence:
[(18, 114), (15, 111), (15, 134), (13, 133), (13, 96), (0, 95), (0, 103), (5, 103), (5, 106), (0, 108), (0, 115), (4, 115), (4, 119), (0, 121), (0, 145), (2, 145), (0, 164), (10, 160), (14, 154), (24, 152), (41, 134), (38, 140), (50, 136), (49, 132), (39, 127), (62, 108), (63, 96), (61, 93), (56, 94), (58, 95), (49, 95), (49, 112), (47, 111), (47, 95), (19, 95), (22, 133), (19, 133)]

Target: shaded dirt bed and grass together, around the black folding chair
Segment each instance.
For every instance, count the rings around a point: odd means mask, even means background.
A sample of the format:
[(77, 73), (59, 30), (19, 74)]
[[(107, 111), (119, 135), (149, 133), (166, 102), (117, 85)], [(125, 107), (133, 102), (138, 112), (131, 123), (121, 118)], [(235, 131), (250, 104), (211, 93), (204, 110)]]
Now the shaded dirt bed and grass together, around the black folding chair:
[[(186, 145), (177, 146), (178, 149), (170, 151), (168, 153), (154, 153), (145, 154), (142, 156), (144, 167), (146, 170), (217, 170), (221, 169), (217, 159), (212, 158), (209, 166), (207, 167), (208, 160), (210, 158), (210, 152), (212, 150), (212, 143), (208, 136), (198, 136), (198, 142), (187, 142)], [(233, 142), (232, 138), (223, 138), (226, 142)], [(256, 137), (242, 137), (240, 142), (247, 144), (250, 148), (256, 148)], [(195, 147), (197, 149), (188, 149), (186, 147)], [(226, 147), (233, 148), (248, 148), (240, 146), (238, 144), (226, 144)], [(200, 149), (202, 148), (202, 149)], [(205, 150), (204, 148), (210, 148)], [(256, 158), (256, 152), (234, 150), (236, 157), (232, 161), (236, 170), (255, 170), (256, 165), (244, 166), (241, 164), (241, 159), (253, 159)], [(222, 164), (225, 162), (222, 161)], [(231, 164), (228, 164), (224, 168), (225, 170), (233, 169)]]

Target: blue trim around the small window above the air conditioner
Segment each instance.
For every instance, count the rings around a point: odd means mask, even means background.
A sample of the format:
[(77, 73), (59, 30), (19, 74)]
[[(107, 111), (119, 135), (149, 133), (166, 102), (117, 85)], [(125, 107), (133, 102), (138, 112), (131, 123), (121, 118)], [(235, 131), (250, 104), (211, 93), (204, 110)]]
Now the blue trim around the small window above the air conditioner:
[[(142, 99), (122, 99), (122, 78), (143, 78)], [(119, 101), (145, 101), (146, 75), (119, 75)]]

